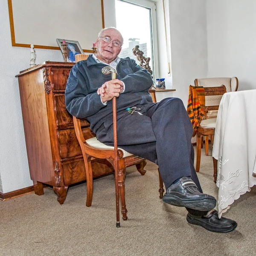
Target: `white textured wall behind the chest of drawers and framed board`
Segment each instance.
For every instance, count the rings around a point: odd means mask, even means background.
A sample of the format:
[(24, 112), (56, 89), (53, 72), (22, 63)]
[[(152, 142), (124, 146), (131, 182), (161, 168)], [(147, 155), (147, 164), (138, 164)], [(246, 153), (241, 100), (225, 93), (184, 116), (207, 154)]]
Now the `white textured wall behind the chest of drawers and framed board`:
[[(116, 26), (114, 0), (105, 5), (105, 26)], [(47, 33), (46, 33), (47, 35)], [(12, 47), (7, 0), (0, 1), (0, 192), (32, 186), (26, 153), (18, 79), (30, 64), (30, 49)], [(95, 38), (96, 39), (96, 38)], [(31, 42), (33, 44), (33, 42)], [(36, 64), (63, 61), (60, 50), (36, 49)]]

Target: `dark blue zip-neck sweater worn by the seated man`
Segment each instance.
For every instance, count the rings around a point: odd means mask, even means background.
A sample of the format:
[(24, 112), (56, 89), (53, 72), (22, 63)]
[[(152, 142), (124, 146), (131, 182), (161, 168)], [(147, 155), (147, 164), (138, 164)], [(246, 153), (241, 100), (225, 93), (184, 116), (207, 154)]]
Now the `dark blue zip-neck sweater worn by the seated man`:
[[(79, 61), (70, 71), (65, 91), (67, 110), (73, 116), (86, 117), (95, 134), (99, 126), (112, 117), (112, 101), (104, 105), (97, 94), (98, 88), (111, 80), (111, 74), (102, 74), (105, 66), (91, 55), (87, 60)], [(116, 70), (116, 79), (125, 83), (125, 91), (116, 98), (117, 114), (126, 108), (152, 102), (148, 89), (153, 81), (147, 70), (129, 57), (121, 59)]]

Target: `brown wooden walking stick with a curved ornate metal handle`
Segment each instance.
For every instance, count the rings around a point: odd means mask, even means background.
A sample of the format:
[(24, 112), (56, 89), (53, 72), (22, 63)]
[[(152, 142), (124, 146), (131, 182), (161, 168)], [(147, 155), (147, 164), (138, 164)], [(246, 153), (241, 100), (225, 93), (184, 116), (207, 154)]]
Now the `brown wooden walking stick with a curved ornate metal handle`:
[[(116, 70), (113, 67), (103, 67), (102, 73), (105, 75), (112, 74), (112, 79), (116, 79)], [(113, 131), (114, 131), (114, 169), (115, 169), (115, 188), (116, 188), (116, 227), (120, 227), (119, 216), (119, 190), (118, 190), (118, 151), (117, 151), (117, 130), (116, 130), (116, 97), (113, 97)]]

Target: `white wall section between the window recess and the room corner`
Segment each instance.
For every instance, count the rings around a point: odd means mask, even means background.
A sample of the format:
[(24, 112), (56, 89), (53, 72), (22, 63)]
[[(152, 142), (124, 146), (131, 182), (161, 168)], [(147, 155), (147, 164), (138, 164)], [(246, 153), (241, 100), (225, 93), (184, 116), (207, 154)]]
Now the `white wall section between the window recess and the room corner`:
[(207, 76), (206, 6), (204, 0), (169, 0), (174, 97), (187, 106), (189, 85)]

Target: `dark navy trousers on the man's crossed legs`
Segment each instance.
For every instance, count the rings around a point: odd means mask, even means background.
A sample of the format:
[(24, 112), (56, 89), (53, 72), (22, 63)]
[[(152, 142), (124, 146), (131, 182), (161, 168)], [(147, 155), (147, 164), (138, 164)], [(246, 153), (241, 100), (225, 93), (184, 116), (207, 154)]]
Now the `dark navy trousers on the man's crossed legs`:
[[(191, 176), (202, 192), (194, 168), (192, 124), (183, 102), (166, 98), (137, 107), (143, 115), (128, 111), (117, 114), (118, 146), (156, 163), (166, 189), (178, 178)], [(100, 142), (113, 145), (113, 119), (105, 121), (96, 135)], [(206, 213), (187, 210), (194, 215)]]

